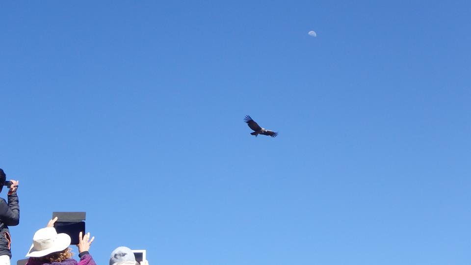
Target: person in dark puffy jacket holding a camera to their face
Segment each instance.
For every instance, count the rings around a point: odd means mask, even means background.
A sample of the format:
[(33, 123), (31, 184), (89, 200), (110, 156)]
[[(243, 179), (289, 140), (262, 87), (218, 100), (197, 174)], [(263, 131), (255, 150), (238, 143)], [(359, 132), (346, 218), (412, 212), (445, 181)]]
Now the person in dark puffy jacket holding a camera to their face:
[[(6, 174), (0, 168), (0, 192), (5, 183)], [(15, 226), (20, 223), (20, 205), (18, 204), (18, 181), (11, 180), (12, 185), (8, 190), (8, 203), (0, 198), (0, 265), (10, 265), (10, 231), (8, 226)]]

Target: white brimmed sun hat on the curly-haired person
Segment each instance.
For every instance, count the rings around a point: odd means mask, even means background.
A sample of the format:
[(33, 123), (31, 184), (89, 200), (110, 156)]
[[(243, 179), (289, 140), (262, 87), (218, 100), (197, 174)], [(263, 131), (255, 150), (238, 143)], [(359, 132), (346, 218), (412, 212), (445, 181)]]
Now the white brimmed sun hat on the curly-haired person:
[(41, 228), (34, 233), (33, 244), (26, 257), (44, 257), (53, 252), (66, 249), (70, 245), (70, 236), (57, 234), (55, 228)]

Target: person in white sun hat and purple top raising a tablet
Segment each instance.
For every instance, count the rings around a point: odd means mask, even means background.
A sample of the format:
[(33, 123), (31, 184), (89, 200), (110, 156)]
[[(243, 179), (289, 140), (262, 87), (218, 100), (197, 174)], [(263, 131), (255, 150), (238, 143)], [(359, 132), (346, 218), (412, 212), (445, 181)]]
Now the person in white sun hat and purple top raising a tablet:
[(57, 217), (50, 220), (46, 228), (41, 228), (34, 234), (33, 243), (26, 257), (29, 257), (26, 265), (96, 265), (88, 250), (95, 237), (90, 238), (90, 233), (79, 234), (78, 257), (80, 261), (72, 259), (70, 236), (57, 234), (54, 223)]

